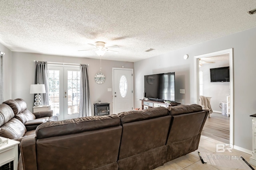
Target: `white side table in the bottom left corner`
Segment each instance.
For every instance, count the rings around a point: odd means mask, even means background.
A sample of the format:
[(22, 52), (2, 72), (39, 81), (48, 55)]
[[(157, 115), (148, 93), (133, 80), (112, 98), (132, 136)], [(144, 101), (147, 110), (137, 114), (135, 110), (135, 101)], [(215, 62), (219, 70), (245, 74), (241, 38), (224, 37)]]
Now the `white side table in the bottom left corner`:
[[(6, 140), (4, 137), (0, 137)], [(13, 169), (18, 170), (18, 144), (19, 141), (8, 139), (8, 144), (3, 144), (0, 147), (0, 166), (13, 161)]]

